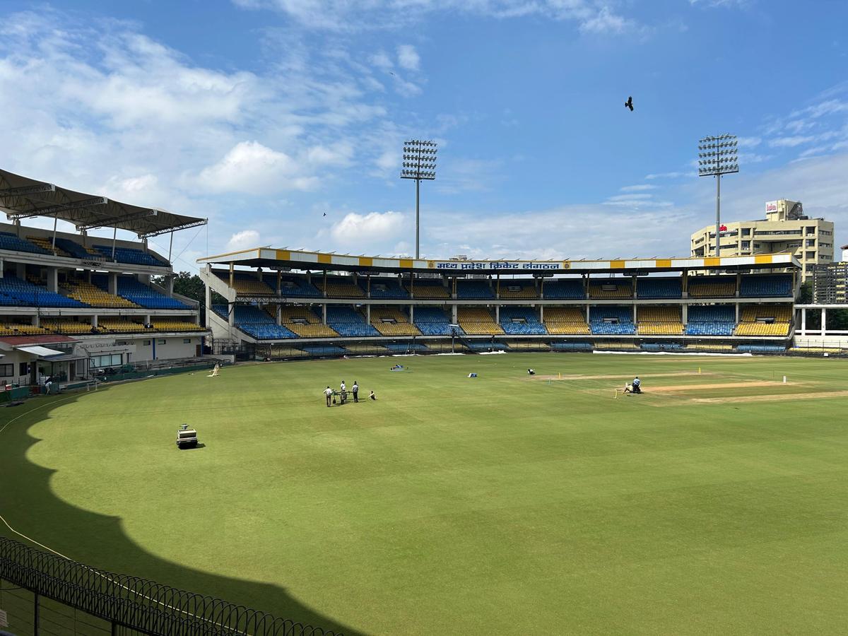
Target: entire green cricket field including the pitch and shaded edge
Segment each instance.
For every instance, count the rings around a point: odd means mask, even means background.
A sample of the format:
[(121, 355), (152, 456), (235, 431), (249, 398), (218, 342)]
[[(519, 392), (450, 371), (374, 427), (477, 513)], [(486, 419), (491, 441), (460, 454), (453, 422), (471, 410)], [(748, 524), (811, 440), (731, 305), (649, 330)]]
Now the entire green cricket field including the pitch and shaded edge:
[[(613, 399), (634, 374), (645, 393)], [(0, 514), (78, 561), (351, 634), (848, 623), (848, 361), (417, 356), (205, 376), (0, 410), (0, 429), (17, 418)], [(327, 409), (342, 379), (377, 402)], [(176, 449), (183, 422), (204, 448)]]

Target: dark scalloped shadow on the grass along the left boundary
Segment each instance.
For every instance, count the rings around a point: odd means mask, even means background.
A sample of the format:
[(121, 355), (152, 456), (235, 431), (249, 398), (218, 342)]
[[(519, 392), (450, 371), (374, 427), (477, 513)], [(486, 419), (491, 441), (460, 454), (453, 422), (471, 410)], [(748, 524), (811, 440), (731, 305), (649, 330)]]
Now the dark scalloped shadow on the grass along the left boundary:
[[(273, 616), (332, 629), (346, 636), (359, 636), (349, 626), (303, 605), (287, 589), (270, 583), (257, 583), (221, 577), (179, 563), (164, 561), (142, 550), (124, 533), (120, 517), (103, 516), (82, 510), (59, 499), (50, 488), (53, 470), (27, 460), (27, 451), (40, 441), (29, 429), (50, 416), (56, 406), (71, 404), (83, 393), (58, 398), (36, 398), (23, 407), (0, 410), (0, 514), (20, 533), (31, 536), (75, 561), (103, 570), (148, 578), (177, 589), (215, 596), (235, 605), (245, 605)], [(49, 400), (48, 404), (45, 402)], [(42, 406), (42, 404), (44, 404)], [(41, 407), (31, 412), (34, 408)], [(204, 444), (198, 444), (198, 449)], [(190, 449), (193, 450), (193, 449)], [(132, 497), (132, 493), (127, 493)], [(0, 534), (24, 541), (0, 525)], [(190, 534), (187, 531), (187, 534)], [(190, 536), (186, 538), (190, 543)], [(33, 544), (40, 550), (39, 546)], [(187, 554), (191, 554), (188, 550)], [(215, 568), (215, 555), (196, 555), (198, 565)]]

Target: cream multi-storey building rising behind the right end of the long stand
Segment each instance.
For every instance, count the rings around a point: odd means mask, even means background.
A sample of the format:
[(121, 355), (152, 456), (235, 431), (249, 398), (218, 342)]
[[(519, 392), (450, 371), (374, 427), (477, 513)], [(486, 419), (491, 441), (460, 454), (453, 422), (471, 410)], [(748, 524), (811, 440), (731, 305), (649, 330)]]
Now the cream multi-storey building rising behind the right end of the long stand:
[[(799, 201), (780, 199), (766, 203), (765, 220), (728, 221), (719, 230), (722, 256), (793, 254), (801, 264), (801, 280), (812, 280), (816, 265), (834, 261), (834, 224), (811, 219)], [(716, 228), (693, 232), (691, 254), (695, 258), (716, 255)]]

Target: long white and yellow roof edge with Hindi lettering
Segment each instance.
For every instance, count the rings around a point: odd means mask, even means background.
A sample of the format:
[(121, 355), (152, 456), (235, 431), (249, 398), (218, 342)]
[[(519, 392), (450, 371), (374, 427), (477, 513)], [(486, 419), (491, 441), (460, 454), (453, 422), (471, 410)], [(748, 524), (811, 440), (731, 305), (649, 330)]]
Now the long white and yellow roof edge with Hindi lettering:
[(435, 274), (564, 274), (629, 271), (743, 270), (801, 267), (792, 254), (756, 254), (720, 258), (610, 260), (456, 260), (400, 259), (323, 254), (293, 249), (253, 248), (198, 259), (200, 264), (244, 265), (269, 269), (347, 271), (427, 271)]

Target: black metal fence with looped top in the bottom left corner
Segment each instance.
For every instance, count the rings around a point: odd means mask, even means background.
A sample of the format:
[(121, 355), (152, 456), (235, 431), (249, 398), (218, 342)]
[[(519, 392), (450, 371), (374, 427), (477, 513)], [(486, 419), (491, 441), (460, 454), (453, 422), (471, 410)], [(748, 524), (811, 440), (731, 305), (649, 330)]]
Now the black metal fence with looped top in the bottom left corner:
[[(16, 636), (340, 636), (0, 538), (0, 610)], [(0, 614), (0, 616), (3, 616)]]

